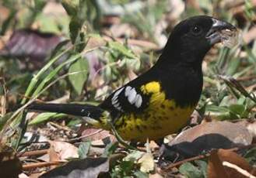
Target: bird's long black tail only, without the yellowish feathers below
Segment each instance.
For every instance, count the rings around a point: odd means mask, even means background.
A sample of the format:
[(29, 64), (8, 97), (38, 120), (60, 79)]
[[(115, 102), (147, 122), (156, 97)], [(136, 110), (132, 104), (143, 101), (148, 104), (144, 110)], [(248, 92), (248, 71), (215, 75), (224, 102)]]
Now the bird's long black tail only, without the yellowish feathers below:
[(27, 109), (35, 111), (48, 111), (64, 113), (67, 115), (76, 115), (89, 118), (100, 118), (103, 113), (103, 109), (98, 106), (89, 104), (30, 104)]

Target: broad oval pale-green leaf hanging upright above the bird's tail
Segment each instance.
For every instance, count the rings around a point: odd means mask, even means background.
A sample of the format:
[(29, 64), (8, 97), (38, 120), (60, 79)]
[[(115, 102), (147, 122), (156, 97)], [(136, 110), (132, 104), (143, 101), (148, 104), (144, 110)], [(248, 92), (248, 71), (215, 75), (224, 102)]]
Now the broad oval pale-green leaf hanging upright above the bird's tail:
[(80, 57), (79, 60), (72, 63), (68, 69), (68, 73), (77, 73), (68, 76), (72, 87), (75, 89), (76, 94), (81, 94), (84, 84), (86, 83), (88, 77), (89, 64), (88, 61)]

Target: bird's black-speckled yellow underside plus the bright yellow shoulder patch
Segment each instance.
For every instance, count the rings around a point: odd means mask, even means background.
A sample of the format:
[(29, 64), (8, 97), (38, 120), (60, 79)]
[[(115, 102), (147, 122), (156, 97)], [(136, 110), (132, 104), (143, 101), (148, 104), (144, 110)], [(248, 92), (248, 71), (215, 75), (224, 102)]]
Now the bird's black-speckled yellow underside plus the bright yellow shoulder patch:
[(149, 108), (139, 114), (126, 114), (117, 118), (117, 132), (125, 140), (146, 141), (160, 139), (177, 132), (188, 122), (195, 106), (181, 108), (174, 100), (168, 100), (160, 83), (153, 81), (143, 85), (141, 91), (150, 94)]

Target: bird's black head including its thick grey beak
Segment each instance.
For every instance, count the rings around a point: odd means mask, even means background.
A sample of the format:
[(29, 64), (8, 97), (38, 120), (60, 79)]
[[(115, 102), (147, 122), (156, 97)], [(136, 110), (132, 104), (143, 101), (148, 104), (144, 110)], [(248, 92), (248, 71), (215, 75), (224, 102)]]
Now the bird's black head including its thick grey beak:
[(162, 58), (168, 63), (195, 63), (201, 65), (205, 54), (221, 41), (223, 29), (235, 30), (228, 22), (210, 16), (194, 16), (177, 24), (170, 34)]

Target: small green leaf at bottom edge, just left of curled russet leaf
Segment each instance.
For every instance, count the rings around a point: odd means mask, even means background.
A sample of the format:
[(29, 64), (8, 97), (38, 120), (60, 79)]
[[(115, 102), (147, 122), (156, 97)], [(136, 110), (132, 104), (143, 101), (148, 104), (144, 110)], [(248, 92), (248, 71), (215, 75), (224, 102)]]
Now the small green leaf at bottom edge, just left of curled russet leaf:
[(184, 163), (179, 168), (180, 173), (187, 177), (204, 178), (204, 174), (192, 163)]

